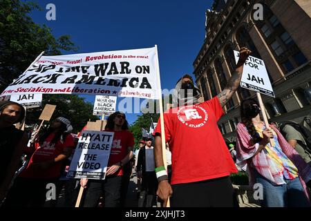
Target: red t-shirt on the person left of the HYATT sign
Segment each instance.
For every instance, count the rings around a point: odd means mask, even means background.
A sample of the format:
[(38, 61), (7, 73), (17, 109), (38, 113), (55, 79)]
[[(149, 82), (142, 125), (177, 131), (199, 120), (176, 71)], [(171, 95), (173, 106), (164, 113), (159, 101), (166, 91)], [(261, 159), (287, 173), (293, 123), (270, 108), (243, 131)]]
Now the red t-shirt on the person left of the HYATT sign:
[(35, 179), (51, 179), (59, 177), (62, 169), (62, 162), (55, 163), (53, 166), (50, 166), (46, 170), (33, 169), (32, 167), (33, 163), (53, 160), (55, 157), (64, 152), (64, 148), (74, 146), (73, 136), (70, 134), (66, 136), (64, 144), (62, 144), (60, 141), (58, 141), (56, 144), (50, 144), (50, 141), (53, 140), (53, 137), (54, 133), (51, 133), (41, 146), (39, 143), (35, 143), (36, 151), (31, 156), (27, 168), (23, 170), (19, 176)]

